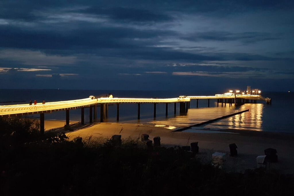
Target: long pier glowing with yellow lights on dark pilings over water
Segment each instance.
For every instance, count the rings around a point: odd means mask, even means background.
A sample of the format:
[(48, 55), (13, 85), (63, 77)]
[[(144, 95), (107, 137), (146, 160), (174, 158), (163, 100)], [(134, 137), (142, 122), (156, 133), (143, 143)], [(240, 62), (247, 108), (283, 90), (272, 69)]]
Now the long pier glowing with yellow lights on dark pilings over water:
[(187, 113), (190, 108), (190, 101), (192, 99), (207, 99), (208, 107), (211, 99), (217, 99), (217, 105), (221, 103), (228, 103), (232, 105), (249, 103), (256, 103), (257, 100), (265, 100), (267, 104), (271, 104), (270, 98), (263, 98), (260, 95), (236, 95), (236, 94), (222, 94), (215, 96), (179, 96), (178, 98), (95, 98), (90, 96), (85, 99), (66, 100), (57, 102), (48, 102), (46, 104), (37, 103), (36, 105), (19, 104), (19, 105), (0, 105), (0, 116), (22, 116), (31, 114), (40, 114), (40, 130), (44, 132), (44, 113), (52, 113), (54, 111), (66, 110), (66, 125), (69, 125), (69, 110), (81, 108), (81, 124), (84, 124), (84, 108), (90, 109), (89, 122), (97, 122), (97, 105), (100, 105), (100, 122), (104, 122), (108, 118), (108, 105), (116, 104), (117, 121), (119, 120), (119, 105), (125, 103), (138, 104), (138, 119), (140, 119), (140, 104), (152, 103), (154, 104), (154, 118), (156, 117), (156, 104), (166, 104), (166, 116), (168, 114), (168, 104), (174, 103), (174, 114), (176, 114), (176, 103), (180, 103), (180, 113)]

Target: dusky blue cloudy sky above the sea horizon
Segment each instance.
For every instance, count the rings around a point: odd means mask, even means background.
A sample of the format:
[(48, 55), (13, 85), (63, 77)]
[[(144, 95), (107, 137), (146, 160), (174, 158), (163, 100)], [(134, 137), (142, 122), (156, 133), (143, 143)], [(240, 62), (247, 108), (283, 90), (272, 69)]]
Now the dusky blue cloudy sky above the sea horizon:
[(292, 90), (293, 13), (291, 0), (1, 0), (0, 88)]

